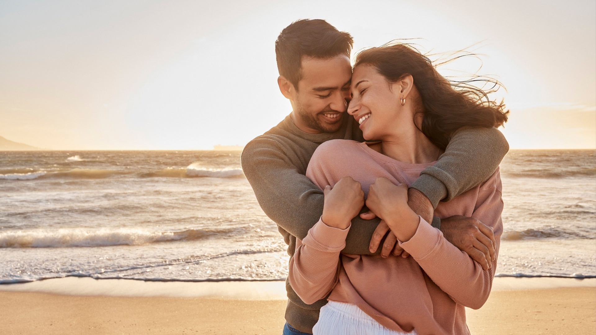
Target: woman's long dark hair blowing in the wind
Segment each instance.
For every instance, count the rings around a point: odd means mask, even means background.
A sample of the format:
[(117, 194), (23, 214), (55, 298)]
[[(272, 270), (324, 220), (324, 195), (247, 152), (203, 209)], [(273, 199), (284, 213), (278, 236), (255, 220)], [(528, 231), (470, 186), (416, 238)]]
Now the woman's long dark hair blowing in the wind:
[[(448, 80), (437, 72), (426, 55), (409, 44), (365, 49), (356, 55), (354, 67), (365, 64), (375, 67), (390, 83), (412, 75), (423, 105), (417, 111), (423, 114), (422, 122), (416, 126), (439, 148), (446, 148), (452, 134), (462, 126), (498, 127), (507, 122), (509, 111), (505, 111), (503, 101), (496, 103), (488, 97), (501, 83), (480, 76)], [(483, 90), (472, 85), (473, 82), (493, 85)]]

